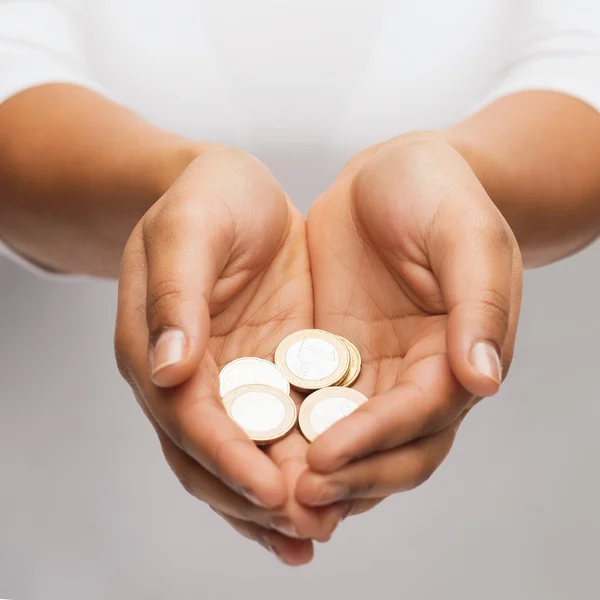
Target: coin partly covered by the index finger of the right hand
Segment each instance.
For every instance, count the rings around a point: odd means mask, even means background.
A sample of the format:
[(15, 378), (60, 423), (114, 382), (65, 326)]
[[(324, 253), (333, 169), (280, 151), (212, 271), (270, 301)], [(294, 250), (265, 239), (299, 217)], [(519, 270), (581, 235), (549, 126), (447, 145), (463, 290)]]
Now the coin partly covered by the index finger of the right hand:
[(307, 396), (300, 406), (300, 431), (313, 442), (334, 423), (353, 413), (367, 397), (357, 390), (330, 387), (317, 390)]

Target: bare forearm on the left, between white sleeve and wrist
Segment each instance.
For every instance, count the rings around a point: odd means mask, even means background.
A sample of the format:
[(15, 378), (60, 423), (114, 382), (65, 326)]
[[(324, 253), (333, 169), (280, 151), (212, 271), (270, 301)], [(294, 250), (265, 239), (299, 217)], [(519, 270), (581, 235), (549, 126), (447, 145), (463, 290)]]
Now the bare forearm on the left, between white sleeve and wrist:
[(0, 105), (0, 238), (61, 271), (116, 277), (146, 210), (205, 147), (70, 85)]

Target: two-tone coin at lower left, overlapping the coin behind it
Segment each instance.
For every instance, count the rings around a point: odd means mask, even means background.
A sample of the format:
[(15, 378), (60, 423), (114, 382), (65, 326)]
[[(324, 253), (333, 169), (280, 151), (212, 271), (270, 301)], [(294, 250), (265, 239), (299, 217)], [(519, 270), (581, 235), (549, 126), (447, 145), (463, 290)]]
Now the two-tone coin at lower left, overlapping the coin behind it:
[(227, 414), (257, 444), (270, 444), (285, 437), (296, 424), (294, 401), (268, 385), (244, 385), (223, 398)]

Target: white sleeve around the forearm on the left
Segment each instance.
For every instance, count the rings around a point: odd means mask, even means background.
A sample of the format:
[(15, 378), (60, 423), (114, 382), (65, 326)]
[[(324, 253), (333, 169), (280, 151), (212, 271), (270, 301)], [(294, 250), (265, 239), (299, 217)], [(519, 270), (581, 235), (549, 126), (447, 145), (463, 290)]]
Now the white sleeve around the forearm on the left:
[[(68, 9), (45, 0), (0, 0), (0, 104), (46, 83), (71, 83), (106, 95), (89, 70), (77, 21)], [(31, 264), (1, 240), (0, 257), (40, 275), (61, 277)]]

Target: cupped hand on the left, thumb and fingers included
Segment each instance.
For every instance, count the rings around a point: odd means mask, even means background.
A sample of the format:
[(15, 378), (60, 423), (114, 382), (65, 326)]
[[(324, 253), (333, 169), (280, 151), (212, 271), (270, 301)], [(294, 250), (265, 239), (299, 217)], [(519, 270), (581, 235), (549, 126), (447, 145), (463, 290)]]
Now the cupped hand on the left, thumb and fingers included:
[(218, 373), (242, 356), (272, 359), (312, 321), (304, 221), (241, 151), (197, 158), (127, 243), (115, 334), (122, 375), (184, 487), (288, 564), (311, 559), (306, 538), (327, 539), (344, 506), (295, 502), (307, 443), (295, 431), (257, 448), (225, 412)]

